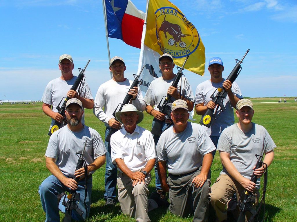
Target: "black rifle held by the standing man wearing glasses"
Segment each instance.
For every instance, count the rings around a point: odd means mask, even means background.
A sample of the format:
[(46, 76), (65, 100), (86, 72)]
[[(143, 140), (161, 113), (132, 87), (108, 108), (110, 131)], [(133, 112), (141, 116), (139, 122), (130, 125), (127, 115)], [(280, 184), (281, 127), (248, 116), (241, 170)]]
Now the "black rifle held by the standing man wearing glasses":
[[(186, 60), (184, 61), (184, 64), (182, 67), (177, 67), (178, 69), (178, 73), (176, 74), (176, 77), (175, 79), (173, 80), (173, 83), (171, 86), (173, 87), (177, 87), (177, 84), (178, 84), (178, 81), (180, 80), (181, 78), (181, 75), (183, 74), (182, 71), (184, 70), (184, 66), (186, 65), (186, 62), (189, 58), (189, 55), (187, 55), (186, 57)], [(181, 92), (180, 92), (181, 93)], [(163, 96), (164, 98), (165, 96)], [(170, 102), (170, 99), (171, 99), (171, 95), (167, 94), (167, 96), (165, 97), (165, 99), (163, 100), (163, 103), (161, 105), (161, 102), (158, 104), (157, 108), (159, 109), (159, 112), (165, 114), (165, 115), (168, 115), (168, 117), (170, 118), (170, 110), (171, 110), (171, 107), (168, 106), (167, 104)], [(161, 120), (158, 120), (156, 118), (154, 118), (154, 121), (155, 121), (155, 124), (154, 124), (154, 127), (151, 129), (151, 133), (153, 135), (156, 135), (156, 136), (160, 136), (161, 133), (162, 133), (162, 123), (163, 121)]]

